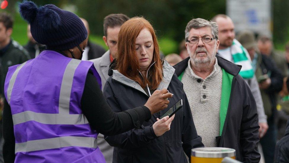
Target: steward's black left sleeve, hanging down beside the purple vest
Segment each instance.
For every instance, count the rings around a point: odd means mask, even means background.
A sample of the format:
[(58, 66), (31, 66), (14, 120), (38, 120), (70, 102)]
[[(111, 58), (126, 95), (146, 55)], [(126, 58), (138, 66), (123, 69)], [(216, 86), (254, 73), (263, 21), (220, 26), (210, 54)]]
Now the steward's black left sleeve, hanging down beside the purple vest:
[(4, 138), (3, 144), (3, 159), (4, 162), (14, 162), (15, 160), (15, 137), (13, 129), (13, 120), (11, 108), (4, 100), (4, 110), (3, 110), (3, 127), (2, 133)]

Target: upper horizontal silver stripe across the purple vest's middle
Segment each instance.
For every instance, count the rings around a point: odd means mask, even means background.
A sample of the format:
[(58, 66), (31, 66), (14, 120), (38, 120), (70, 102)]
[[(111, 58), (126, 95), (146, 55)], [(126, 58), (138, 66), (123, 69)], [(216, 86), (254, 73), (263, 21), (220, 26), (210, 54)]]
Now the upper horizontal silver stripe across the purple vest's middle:
[(84, 114), (49, 114), (25, 111), (12, 115), (13, 125), (27, 121), (36, 121), (42, 124), (88, 124)]

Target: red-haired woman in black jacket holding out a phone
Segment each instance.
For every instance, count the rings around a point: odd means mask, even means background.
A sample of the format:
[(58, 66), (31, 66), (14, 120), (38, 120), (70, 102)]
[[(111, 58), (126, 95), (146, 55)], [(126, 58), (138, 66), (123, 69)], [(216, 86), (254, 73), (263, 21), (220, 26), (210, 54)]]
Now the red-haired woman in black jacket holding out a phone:
[[(110, 66), (104, 87), (107, 103), (121, 112), (145, 104), (156, 89), (167, 88), (174, 96), (167, 109), (152, 115), (140, 129), (105, 137), (115, 147), (113, 162), (187, 162), (185, 154), (190, 157), (192, 148), (203, 147), (183, 85), (174, 71), (160, 59), (157, 37), (147, 20), (131, 18), (121, 26), (116, 62)], [(179, 99), (183, 107), (166, 132), (159, 118)]]

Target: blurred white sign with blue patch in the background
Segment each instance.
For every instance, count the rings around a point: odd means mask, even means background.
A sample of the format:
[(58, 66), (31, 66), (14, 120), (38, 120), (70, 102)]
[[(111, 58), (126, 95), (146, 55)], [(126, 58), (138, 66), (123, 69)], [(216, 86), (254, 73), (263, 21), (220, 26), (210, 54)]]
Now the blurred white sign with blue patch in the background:
[(236, 32), (249, 29), (272, 36), (271, 0), (227, 0), (226, 8)]

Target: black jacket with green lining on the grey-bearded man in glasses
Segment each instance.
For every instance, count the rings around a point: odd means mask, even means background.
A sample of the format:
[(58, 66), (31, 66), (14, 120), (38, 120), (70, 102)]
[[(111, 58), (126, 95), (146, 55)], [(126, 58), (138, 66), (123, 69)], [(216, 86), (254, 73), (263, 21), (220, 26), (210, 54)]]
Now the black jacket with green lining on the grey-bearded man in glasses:
[[(236, 150), (236, 159), (241, 162), (259, 162), (259, 124), (256, 102), (245, 80), (238, 75), (240, 65), (216, 56), (218, 65), (233, 75), (227, 116), (221, 137), (216, 137), (219, 147)], [(174, 66), (179, 76), (187, 67), (190, 57)]]

